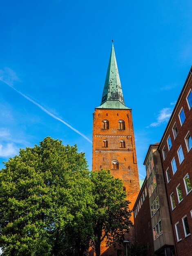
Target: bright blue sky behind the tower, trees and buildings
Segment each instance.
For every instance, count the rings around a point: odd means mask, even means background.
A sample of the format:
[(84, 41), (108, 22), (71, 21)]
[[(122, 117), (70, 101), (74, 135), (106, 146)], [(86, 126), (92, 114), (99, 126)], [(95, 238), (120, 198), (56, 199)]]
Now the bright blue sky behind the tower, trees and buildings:
[(51, 136), (77, 144), (91, 169), (113, 38), (142, 179), (192, 65), (191, 10), (191, 0), (2, 0), (0, 162)]

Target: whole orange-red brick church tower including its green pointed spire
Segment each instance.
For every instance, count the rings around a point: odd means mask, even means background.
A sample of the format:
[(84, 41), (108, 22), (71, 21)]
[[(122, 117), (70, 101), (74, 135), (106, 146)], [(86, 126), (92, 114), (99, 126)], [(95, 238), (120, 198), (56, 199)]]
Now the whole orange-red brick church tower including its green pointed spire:
[[(139, 192), (132, 110), (125, 106), (113, 44), (101, 104), (93, 114), (92, 160), (92, 170), (109, 169), (123, 181), (132, 209)], [(129, 239), (134, 240), (134, 230), (130, 231)], [(117, 253), (101, 245), (102, 256)]]

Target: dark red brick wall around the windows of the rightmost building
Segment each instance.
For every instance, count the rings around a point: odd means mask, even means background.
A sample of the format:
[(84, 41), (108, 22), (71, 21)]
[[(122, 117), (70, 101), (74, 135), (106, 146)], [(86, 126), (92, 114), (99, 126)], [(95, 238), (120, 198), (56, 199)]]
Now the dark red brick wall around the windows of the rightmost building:
[[(192, 210), (192, 192), (186, 195), (185, 185), (183, 182), (183, 177), (186, 175), (186, 173), (188, 173), (190, 177), (190, 182), (192, 185), (192, 149), (188, 152), (185, 144), (185, 136), (188, 133), (188, 131), (190, 131), (190, 135), (192, 136), (192, 108), (189, 110), (188, 104), (186, 101), (187, 94), (191, 88), (192, 88), (192, 76), (189, 77), (186, 83), (185, 89), (183, 91), (183, 95), (181, 96), (181, 100), (178, 103), (177, 108), (175, 109), (172, 121), (170, 122), (170, 125), (167, 128), (165, 136), (159, 147), (159, 150), (161, 152), (162, 162), (163, 162), (163, 170), (164, 170), (164, 175), (166, 180), (166, 188), (167, 188), (167, 194), (169, 199), (172, 224), (173, 224), (173, 230), (174, 230), (174, 238), (175, 238), (175, 244), (176, 244), (176, 250), (177, 250), (178, 256), (192, 255), (192, 237), (188, 236), (185, 238), (183, 223), (182, 223), (182, 217), (187, 215), (190, 232), (192, 234), (192, 216), (190, 213), (190, 210)], [(178, 115), (182, 107), (183, 107), (186, 119), (183, 125), (181, 126)], [(176, 126), (179, 133), (177, 137), (174, 139), (172, 127), (174, 126), (175, 122), (176, 122)], [(170, 148), (170, 150), (168, 150), (168, 146), (167, 146), (167, 138), (169, 135), (172, 141), (172, 147)], [(185, 159), (181, 164), (179, 163), (179, 158), (177, 154), (177, 150), (180, 145), (182, 146), (183, 155), (185, 157)], [(165, 160), (163, 160), (163, 154), (162, 154), (162, 149), (164, 146), (167, 152), (167, 156)], [(171, 166), (171, 161), (173, 157), (175, 158), (176, 166), (177, 166), (177, 171), (176, 173), (174, 173), (174, 175), (173, 175), (172, 166)], [(165, 172), (167, 168), (169, 168), (170, 170), (170, 177), (171, 177), (171, 180), (169, 183), (167, 183), (167, 177)], [(180, 203), (176, 193), (176, 186), (179, 183), (181, 185), (181, 190), (183, 194), (183, 201)], [(172, 210), (172, 206), (170, 202), (170, 195), (172, 192), (174, 193), (174, 198), (176, 202), (176, 208), (174, 210)], [(181, 237), (182, 237), (182, 240), (179, 242), (177, 242), (176, 231), (174, 226), (174, 224), (178, 221), (180, 224)]]

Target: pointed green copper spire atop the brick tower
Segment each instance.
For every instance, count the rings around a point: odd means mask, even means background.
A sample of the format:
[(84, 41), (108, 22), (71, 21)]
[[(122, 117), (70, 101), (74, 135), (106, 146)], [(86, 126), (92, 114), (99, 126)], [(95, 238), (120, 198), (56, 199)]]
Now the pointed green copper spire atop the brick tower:
[(103, 96), (100, 106), (97, 108), (118, 108), (129, 109), (125, 106), (123, 99), (123, 92), (121, 88), (121, 81), (118, 74), (117, 62), (115, 57), (114, 46), (112, 44), (111, 55), (109, 58), (109, 65), (107, 68), (107, 75), (103, 89)]

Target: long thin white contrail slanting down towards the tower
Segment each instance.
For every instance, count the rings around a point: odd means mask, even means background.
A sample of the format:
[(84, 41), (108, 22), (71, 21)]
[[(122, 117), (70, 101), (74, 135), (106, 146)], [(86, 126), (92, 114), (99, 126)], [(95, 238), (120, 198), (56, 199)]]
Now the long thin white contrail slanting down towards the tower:
[(88, 139), (83, 133), (79, 132), (78, 130), (76, 130), (75, 128), (73, 128), (72, 126), (70, 126), (70, 124), (67, 124), (65, 121), (63, 121), (62, 119), (60, 119), (59, 117), (56, 117), (54, 114), (52, 114), (51, 112), (49, 112), (47, 109), (43, 108), (40, 104), (38, 104), (37, 102), (33, 101), (32, 99), (30, 99), (29, 97), (27, 97), (25, 94), (23, 94), (22, 92), (18, 91), (17, 89), (15, 89), (13, 86), (11, 86), (10, 84), (7, 83), (7, 85), (9, 85), (13, 90), (15, 90), (16, 92), (18, 92), (20, 95), (22, 95), (22, 97), (24, 97), (25, 99), (27, 99), (28, 101), (31, 101), (33, 104), (35, 104), (36, 106), (38, 106), (42, 111), (44, 111), (45, 113), (47, 113), (47, 115), (53, 117), (54, 119), (60, 121), (61, 123), (65, 124), (66, 126), (68, 126), (71, 130), (74, 130), (74, 132), (78, 133), (80, 136), (82, 136), (84, 139), (87, 139), (87, 141), (89, 141), (90, 143), (92, 143), (92, 141), (90, 139)]

